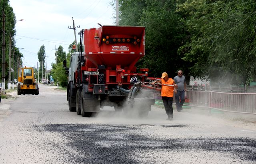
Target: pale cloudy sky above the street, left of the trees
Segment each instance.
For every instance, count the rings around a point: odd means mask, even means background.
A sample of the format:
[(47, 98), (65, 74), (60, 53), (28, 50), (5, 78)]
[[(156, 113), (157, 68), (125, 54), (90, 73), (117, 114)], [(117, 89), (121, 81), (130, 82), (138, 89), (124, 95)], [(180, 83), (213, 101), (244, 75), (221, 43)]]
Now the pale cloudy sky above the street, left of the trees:
[[(114, 25), (116, 13), (112, 0), (10, 0), (16, 16), (16, 47), (23, 54), (23, 66), (39, 67), (38, 51), (46, 50), (47, 70), (55, 63), (55, 47), (60, 45), (68, 53), (68, 46), (75, 40), (72, 17), (79, 43), (82, 29)], [(23, 21), (18, 21), (22, 20)]]

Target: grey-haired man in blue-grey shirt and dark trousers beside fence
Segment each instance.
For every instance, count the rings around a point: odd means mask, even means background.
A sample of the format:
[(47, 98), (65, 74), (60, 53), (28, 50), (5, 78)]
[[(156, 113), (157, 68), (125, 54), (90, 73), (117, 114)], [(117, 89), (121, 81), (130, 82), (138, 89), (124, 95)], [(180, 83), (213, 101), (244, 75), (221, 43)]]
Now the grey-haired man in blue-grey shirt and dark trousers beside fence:
[(177, 111), (182, 110), (182, 105), (185, 102), (186, 79), (182, 73), (182, 70), (178, 70), (178, 76), (175, 76), (173, 79), (175, 84), (178, 85), (178, 88), (174, 90)]

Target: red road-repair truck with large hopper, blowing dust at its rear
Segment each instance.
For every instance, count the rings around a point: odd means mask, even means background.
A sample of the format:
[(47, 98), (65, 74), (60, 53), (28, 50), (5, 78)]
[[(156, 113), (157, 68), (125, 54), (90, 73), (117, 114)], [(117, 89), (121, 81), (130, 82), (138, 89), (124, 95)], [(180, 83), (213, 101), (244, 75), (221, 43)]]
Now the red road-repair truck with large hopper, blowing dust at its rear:
[[(136, 72), (145, 55), (145, 27), (103, 25), (80, 31), (80, 52), (73, 53), (68, 73), (67, 100), (70, 111), (90, 117), (104, 106), (115, 111), (148, 115), (154, 105), (152, 90), (142, 82), (148, 68)], [(136, 77), (135, 82), (131, 78)], [(137, 82), (136, 82), (137, 81)]]

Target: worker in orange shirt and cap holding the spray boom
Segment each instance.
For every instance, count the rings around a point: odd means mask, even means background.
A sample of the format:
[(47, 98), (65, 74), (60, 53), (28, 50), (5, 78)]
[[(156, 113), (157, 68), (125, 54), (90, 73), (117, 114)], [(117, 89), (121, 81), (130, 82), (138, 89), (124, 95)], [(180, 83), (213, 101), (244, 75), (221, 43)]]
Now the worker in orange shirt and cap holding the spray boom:
[(162, 73), (161, 80), (157, 80), (157, 81), (153, 82), (152, 84), (154, 85), (156, 82), (159, 82), (161, 84), (173, 85), (173, 86), (162, 85), (162, 90), (161, 90), (161, 96), (162, 96), (162, 100), (164, 103), (164, 109), (166, 111), (166, 114), (168, 115), (167, 120), (172, 120), (173, 119), (173, 108), (172, 108), (173, 91), (174, 91), (174, 88), (178, 88), (178, 85), (175, 84), (175, 82), (174, 82), (174, 80), (172, 80), (172, 78), (168, 77), (168, 74), (166, 72)]

